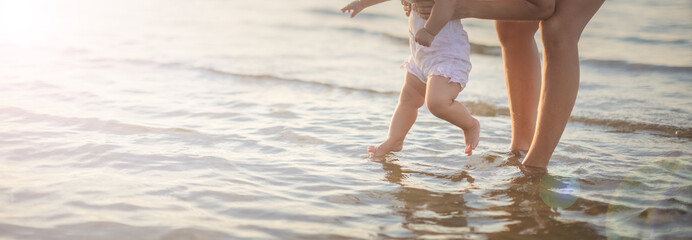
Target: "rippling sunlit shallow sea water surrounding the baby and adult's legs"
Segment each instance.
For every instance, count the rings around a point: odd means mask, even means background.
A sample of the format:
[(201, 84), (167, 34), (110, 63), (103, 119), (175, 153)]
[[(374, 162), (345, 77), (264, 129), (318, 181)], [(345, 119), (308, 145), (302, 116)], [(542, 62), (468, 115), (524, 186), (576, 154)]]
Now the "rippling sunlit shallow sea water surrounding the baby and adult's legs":
[[(376, 160), (407, 54), (399, 6), (349, 20), (345, 1), (263, 2), (2, 1), (43, 7), (0, 14), (0, 238), (692, 238), (691, 27), (636, 27), (688, 2), (606, 2), (547, 175), (507, 150), (491, 23), (465, 23), (488, 51), (459, 98), (483, 126), (474, 155), (421, 109), (404, 151)], [(641, 8), (683, 12), (603, 31)]]

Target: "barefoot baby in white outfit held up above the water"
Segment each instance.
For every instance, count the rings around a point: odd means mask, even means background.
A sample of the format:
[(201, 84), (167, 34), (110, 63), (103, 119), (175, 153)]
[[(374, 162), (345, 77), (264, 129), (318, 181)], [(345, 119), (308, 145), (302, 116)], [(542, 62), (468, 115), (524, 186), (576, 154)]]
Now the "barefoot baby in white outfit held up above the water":
[[(356, 0), (341, 11), (355, 17), (363, 9), (385, 1)], [(461, 128), (466, 155), (470, 156), (478, 145), (480, 123), (456, 101), (466, 87), (471, 71), (468, 35), (460, 20), (452, 20), (456, 4), (456, 0), (435, 0), (427, 21), (415, 13), (410, 14), (411, 56), (403, 66), (406, 68), (404, 86), (387, 139), (377, 146), (368, 147), (371, 156), (382, 157), (400, 151), (406, 134), (416, 121), (418, 108), (424, 103), (430, 113)]]

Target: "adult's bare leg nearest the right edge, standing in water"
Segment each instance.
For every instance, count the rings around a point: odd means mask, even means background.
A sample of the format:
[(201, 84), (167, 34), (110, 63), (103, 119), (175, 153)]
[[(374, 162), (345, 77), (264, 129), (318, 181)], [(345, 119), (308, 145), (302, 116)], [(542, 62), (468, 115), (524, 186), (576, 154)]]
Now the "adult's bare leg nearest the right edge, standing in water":
[(557, 0), (555, 14), (541, 22), (545, 72), (536, 133), (525, 166), (545, 168), (560, 141), (579, 90), (579, 37), (603, 2)]

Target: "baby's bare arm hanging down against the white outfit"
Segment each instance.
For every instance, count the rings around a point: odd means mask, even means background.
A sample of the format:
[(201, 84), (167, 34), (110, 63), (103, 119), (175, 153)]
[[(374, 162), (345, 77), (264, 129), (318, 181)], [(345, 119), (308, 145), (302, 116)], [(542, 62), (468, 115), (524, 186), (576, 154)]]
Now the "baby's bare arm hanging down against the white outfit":
[(456, 4), (456, 0), (435, 0), (435, 5), (433, 5), (428, 21), (416, 33), (416, 42), (430, 47), (435, 36), (442, 31), (447, 22), (452, 20)]

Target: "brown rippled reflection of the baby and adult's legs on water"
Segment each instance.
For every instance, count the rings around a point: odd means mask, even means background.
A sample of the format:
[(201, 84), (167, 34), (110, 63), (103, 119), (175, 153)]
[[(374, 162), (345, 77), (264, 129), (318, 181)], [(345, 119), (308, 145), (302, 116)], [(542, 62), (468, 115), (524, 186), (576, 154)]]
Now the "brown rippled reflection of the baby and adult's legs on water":
[[(499, 167), (521, 170), (523, 167), (519, 158), (520, 156), (508, 157)], [(573, 179), (521, 170), (510, 176), (503, 187), (479, 189), (474, 186), (474, 177), (464, 170), (451, 175), (410, 170), (391, 155), (373, 161), (382, 164), (385, 180), (401, 185), (395, 194), (401, 206), (395, 212), (405, 219), (403, 227), (415, 237), (604, 239), (598, 229), (589, 223), (559, 220), (561, 211), (558, 208), (564, 211), (588, 211), (588, 215), (592, 216), (605, 213), (604, 204), (600, 204), (600, 208), (589, 206), (594, 203), (573, 195), (578, 191), (578, 188), (572, 187), (575, 186)], [(466, 182), (468, 187), (458, 191), (421, 189), (406, 183), (410, 175), (434, 177), (439, 180), (438, 184)], [(474, 195), (480, 195), (484, 201), (504, 203), (484, 209), (469, 206), (464, 199), (469, 191), (480, 191), (481, 193)], [(481, 215), (493, 217), (483, 219)]]

